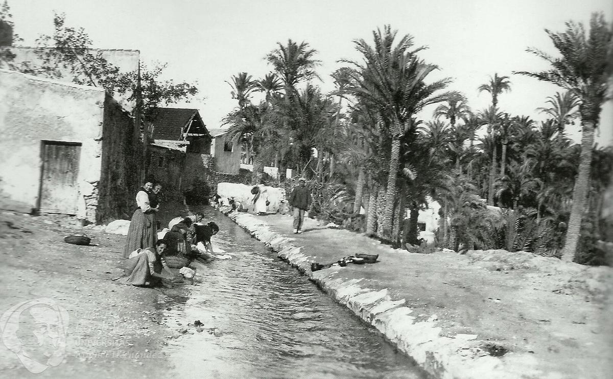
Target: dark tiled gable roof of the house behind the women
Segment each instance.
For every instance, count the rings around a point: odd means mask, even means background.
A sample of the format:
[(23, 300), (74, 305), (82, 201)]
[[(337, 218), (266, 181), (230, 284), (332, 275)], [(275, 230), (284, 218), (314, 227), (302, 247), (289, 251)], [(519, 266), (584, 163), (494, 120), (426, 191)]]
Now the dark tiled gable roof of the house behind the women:
[[(197, 109), (186, 108), (156, 108), (153, 120), (153, 139), (180, 140), (186, 132), (189, 122), (193, 119), (199, 132), (207, 133)], [(192, 126), (193, 127), (193, 126)], [(194, 131), (190, 130), (190, 133)], [(198, 131), (197, 131), (198, 132)]]

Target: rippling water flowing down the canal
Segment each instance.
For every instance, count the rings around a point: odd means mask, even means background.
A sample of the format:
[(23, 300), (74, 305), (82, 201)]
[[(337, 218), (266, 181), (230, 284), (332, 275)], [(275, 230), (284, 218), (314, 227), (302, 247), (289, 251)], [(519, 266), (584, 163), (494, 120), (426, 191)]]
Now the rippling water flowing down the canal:
[[(164, 290), (167, 323), (190, 331), (169, 343), (180, 377), (425, 378), (376, 329), (240, 226), (213, 208), (204, 213), (219, 225), (215, 252), (232, 258), (197, 263), (196, 285)], [(195, 320), (203, 331), (187, 326)]]

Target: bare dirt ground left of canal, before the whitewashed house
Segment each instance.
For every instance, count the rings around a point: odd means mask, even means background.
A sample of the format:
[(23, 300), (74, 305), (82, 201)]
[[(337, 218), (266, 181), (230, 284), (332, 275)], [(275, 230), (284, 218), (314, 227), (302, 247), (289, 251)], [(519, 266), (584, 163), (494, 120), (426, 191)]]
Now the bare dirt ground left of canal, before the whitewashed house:
[[(65, 235), (83, 232), (99, 246), (63, 242)], [(20, 302), (47, 299), (68, 315), (64, 351), (61, 344), (48, 341), (39, 346), (32, 334), (39, 320), (32, 320), (27, 305), (21, 313), (18, 345), (44, 366), (49, 359), (44, 351), (58, 356), (57, 361), (49, 361), (57, 367), (44, 370), (40, 377), (140, 378), (171, 372), (162, 351), (170, 333), (159, 312), (169, 305), (169, 299), (156, 289), (111, 281), (123, 274), (124, 239), (95, 229), (85, 231), (68, 217), (0, 213), (0, 314)], [(6, 325), (2, 327), (6, 330)], [(53, 330), (48, 329), (51, 337)], [(7, 348), (6, 332), (2, 339), (1, 376), (30, 375)], [(62, 339), (59, 332), (58, 340)], [(29, 368), (36, 370), (36, 365)]]

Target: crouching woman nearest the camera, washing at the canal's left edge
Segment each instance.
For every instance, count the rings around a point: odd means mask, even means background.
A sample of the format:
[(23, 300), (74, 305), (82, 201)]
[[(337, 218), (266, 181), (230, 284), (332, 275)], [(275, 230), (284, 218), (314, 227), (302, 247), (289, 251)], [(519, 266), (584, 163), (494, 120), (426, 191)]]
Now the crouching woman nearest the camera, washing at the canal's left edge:
[(120, 279), (121, 283), (133, 286), (154, 286), (160, 284), (162, 278), (169, 279), (169, 273), (165, 270), (166, 262), (162, 258), (166, 246), (165, 240), (158, 240), (154, 248), (132, 251), (126, 261), (125, 276)]

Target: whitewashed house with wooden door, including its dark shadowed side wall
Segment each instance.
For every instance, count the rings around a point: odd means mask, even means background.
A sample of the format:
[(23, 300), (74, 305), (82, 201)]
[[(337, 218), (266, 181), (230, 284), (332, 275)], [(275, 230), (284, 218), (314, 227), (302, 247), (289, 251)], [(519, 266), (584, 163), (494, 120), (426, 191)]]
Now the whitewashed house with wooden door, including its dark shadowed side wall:
[(0, 69), (0, 208), (105, 222), (130, 214), (142, 156), (104, 90)]

